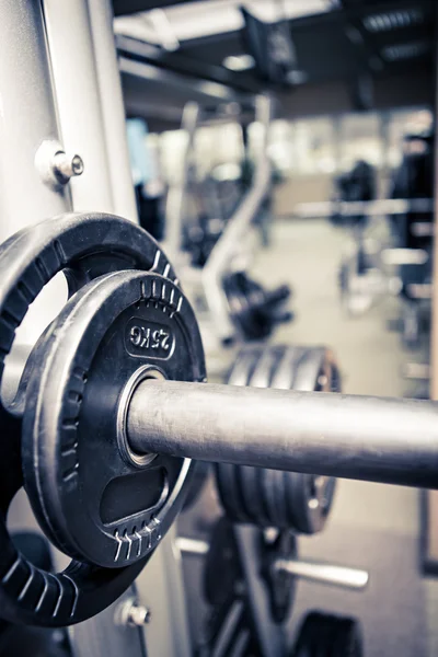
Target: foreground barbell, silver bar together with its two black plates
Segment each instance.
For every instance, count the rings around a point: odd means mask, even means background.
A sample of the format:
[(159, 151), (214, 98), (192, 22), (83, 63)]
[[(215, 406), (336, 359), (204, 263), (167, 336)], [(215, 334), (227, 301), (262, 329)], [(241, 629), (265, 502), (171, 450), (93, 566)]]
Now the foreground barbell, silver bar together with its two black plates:
[[(0, 407), (2, 618), (62, 626), (111, 604), (180, 511), (189, 459), (438, 485), (431, 402), (206, 383), (196, 318), (170, 263), (113, 216), (58, 217), (1, 246), (1, 379), (16, 327), (60, 270), (71, 297)], [(62, 573), (35, 567), (11, 540), (5, 517), (23, 484), (72, 558)]]

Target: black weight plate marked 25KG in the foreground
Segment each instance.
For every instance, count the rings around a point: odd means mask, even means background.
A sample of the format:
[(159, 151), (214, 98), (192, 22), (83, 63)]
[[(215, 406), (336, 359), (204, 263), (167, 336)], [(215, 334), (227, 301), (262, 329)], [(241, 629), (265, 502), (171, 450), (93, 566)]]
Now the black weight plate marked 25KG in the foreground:
[(110, 568), (128, 565), (153, 550), (175, 518), (189, 461), (129, 461), (117, 433), (125, 422), (120, 397), (141, 372), (205, 380), (195, 315), (168, 279), (118, 272), (82, 288), (44, 342), (23, 420), (33, 509), (70, 556)]

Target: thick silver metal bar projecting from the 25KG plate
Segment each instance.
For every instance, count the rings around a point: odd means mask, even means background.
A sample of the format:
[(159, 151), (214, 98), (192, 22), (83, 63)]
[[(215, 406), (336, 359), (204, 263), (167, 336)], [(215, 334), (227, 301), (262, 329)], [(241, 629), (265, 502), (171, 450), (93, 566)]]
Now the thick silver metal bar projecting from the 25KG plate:
[(438, 488), (434, 402), (143, 381), (127, 433), (139, 453)]

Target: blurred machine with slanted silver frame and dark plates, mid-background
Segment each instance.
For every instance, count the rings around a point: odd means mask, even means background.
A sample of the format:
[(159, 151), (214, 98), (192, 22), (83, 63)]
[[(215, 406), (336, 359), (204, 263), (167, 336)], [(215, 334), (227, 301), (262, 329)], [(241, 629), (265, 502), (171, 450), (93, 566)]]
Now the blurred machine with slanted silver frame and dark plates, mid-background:
[[(215, 110), (201, 110), (195, 103), (185, 106), (182, 128), (186, 146), (181, 175), (171, 186), (166, 204), (164, 245), (178, 263), (182, 280), (201, 325), (207, 323), (203, 335), (208, 334), (211, 339), (216, 334), (220, 345), (264, 339), (272, 335), (276, 325), (292, 319), (291, 312), (285, 308), (290, 289), (280, 286), (266, 290), (247, 274), (253, 251), (252, 235), (258, 224), (269, 220), (272, 166), (267, 145), (273, 100), (258, 96), (253, 105), (240, 107), (238, 117), (244, 111), (255, 113), (263, 138), (251, 176), (244, 181), (242, 173), (241, 183), (233, 184), (231, 196), (234, 200), (228, 201), (231, 214), (224, 211), (223, 203), (220, 203), (219, 184), (212, 180), (197, 180), (194, 149), (201, 117), (217, 119), (223, 116), (229, 119), (227, 106)], [(247, 152), (244, 161), (250, 162)], [(195, 217), (191, 216), (191, 199), (198, 208)], [(187, 263), (187, 252), (191, 263)], [(207, 310), (204, 315), (203, 310)]]

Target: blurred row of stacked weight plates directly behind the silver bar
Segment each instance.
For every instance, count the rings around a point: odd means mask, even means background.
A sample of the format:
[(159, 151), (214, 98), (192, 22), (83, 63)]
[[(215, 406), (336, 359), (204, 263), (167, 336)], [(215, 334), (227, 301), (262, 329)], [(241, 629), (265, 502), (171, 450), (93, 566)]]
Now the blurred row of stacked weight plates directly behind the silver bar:
[[(253, 345), (238, 355), (231, 385), (300, 391), (339, 391), (339, 372), (324, 347)], [(234, 522), (291, 529), (312, 534), (327, 518), (335, 480), (221, 463), (216, 465), (219, 496)]]

